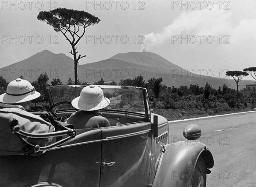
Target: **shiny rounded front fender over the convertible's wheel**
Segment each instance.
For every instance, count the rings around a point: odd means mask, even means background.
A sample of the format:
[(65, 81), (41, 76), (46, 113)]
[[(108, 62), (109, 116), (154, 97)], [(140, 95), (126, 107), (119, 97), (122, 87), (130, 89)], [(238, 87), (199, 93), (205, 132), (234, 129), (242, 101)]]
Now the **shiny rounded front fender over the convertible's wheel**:
[(212, 153), (198, 141), (179, 141), (165, 146), (153, 181), (153, 187), (190, 187), (195, 164), (202, 157), (213, 167)]

